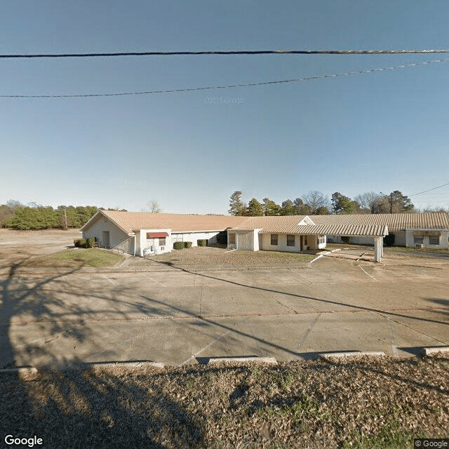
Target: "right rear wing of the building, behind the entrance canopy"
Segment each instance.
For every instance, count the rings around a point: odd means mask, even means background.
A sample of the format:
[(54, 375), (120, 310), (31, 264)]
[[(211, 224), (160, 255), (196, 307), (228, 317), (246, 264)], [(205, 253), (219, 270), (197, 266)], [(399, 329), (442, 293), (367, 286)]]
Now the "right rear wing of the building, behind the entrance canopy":
[[(449, 248), (449, 213), (382, 213), (357, 215), (311, 215), (316, 224), (351, 223), (360, 225), (386, 225), (389, 246), (410, 246), (413, 248)], [(342, 242), (342, 234), (328, 234), (328, 241)], [(372, 243), (366, 236), (351, 236), (351, 243)]]

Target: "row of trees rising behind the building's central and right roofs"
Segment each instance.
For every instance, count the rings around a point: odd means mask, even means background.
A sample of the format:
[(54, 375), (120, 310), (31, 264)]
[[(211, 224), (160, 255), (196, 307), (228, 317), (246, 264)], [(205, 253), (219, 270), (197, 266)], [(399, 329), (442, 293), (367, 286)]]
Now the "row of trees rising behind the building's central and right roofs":
[[(229, 201), (230, 215), (262, 216), (262, 215), (327, 215), (351, 213), (410, 213), (418, 212), (408, 196), (395, 190), (390, 194), (366, 192), (354, 197), (340, 192), (332, 194), (331, 198), (318, 190), (311, 190), (296, 199), (286, 199), (277, 204), (272, 199), (264, 198), (262, 202), (253, 198), (248, 203), (241, 199), (242, 192), (236, 190)], [(424, 212), (444, 211), (427, 208)]]

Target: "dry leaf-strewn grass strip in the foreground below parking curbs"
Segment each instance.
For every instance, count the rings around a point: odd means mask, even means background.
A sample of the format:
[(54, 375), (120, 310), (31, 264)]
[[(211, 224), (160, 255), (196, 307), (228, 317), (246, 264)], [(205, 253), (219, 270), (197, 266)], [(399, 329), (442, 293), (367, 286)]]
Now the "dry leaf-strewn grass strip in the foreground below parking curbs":
[(2, 381), (3, 434), (36, 435), (45, 448), (404, 448), (449, 431), (448, 358), (95, 368)]

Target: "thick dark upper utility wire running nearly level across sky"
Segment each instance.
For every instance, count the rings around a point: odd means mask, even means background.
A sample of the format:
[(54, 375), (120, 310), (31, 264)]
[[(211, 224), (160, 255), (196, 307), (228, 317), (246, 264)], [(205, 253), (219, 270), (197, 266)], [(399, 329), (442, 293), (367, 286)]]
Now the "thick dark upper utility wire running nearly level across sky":
[(117, 53), (41, 53), (0, 55), (0, 58), (98, 58), (111, 56), (178, 56), (178, 55), (401, 55), (407, 53), (449, 53), (439, 50), (231, 50), (231, 51), (128, 51)]

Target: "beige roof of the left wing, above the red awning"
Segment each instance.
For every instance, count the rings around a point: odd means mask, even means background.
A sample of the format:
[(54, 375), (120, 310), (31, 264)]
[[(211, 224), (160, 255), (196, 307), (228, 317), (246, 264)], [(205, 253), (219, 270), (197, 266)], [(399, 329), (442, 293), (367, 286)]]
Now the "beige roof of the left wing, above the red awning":
[(91, 223), (104, 215), (127, 234), (140, 229), (171, 229), (180, 231), (222, 231), (238, 225), (246, 217), (227, 215), (182, 215), (175, 213), (122, 212), (121, 210), (100, 210), (84, 225), (86, 230)]

